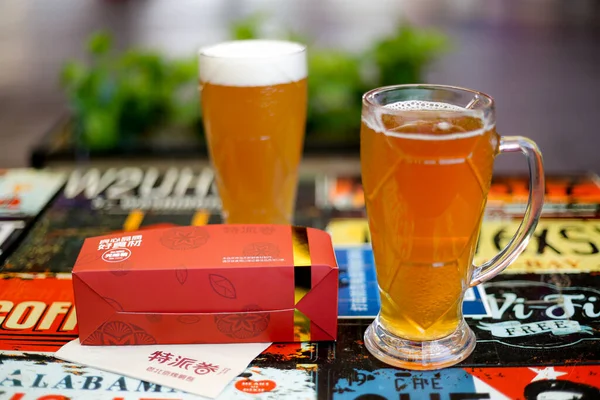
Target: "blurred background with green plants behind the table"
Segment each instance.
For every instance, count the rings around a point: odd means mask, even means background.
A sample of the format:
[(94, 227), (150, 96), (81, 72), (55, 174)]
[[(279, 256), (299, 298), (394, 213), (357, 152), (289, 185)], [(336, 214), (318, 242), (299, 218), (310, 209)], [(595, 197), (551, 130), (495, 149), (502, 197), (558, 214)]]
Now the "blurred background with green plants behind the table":
[(307, 157), (357, 156), (360, 93), (425, 81), (492, 95), (549, 172), (600, 172), (597, 0), (2, 0), (0, 167), (201, 158), (195, 54), (232, 37), (309, 44)]

